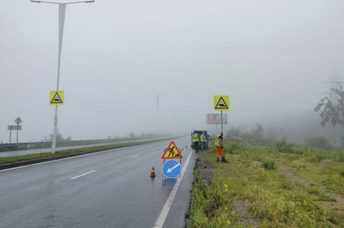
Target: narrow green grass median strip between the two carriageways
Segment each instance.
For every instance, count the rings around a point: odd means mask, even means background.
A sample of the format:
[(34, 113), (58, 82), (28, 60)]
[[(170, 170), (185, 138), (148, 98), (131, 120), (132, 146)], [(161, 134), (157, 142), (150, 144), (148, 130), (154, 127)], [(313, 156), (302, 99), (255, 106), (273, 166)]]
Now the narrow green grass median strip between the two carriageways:
[(159, 141), (164, 141), (164, 140), (169, 140), (169, 139), (149, 140), (149, 141), (140, 141), (140, 142), (125, 142), (125, 143), (111, 144), (111, 145), (104, 145), (104, 146), (93, 146), (93, 147), (84, 147), (84, 148), (69, 149), (69, 150), (59, 150), (59, 151), (56, 151), (54, 154), (51, 152), (45, 152), (45, 153), (33, 153), (33, 154), (28, 154), (28, 155), (19, 155), (19, 156), (11, 156), (11, 157), (0, 157), (0, 164), (15, 163), (15, 162), (20, 162), (20, 161), (28, 161), (28, 160), (33, 160), (33, 159), (47, 158), (47, 157), (56, 157), (56, 156), (61, 156), (61, 155), (69, 155), (72, 153), (79, 153), (79, 152), (99, 150), (99, 149), (135, 146), (135, 145), (159, 142)]

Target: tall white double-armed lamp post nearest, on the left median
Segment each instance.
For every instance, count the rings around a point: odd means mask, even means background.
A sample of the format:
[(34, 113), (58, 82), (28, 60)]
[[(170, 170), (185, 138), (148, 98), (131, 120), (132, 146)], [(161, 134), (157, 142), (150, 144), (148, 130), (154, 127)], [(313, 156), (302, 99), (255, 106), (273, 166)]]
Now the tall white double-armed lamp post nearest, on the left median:
[[(68, 3), (46, 2), (46, 1), (37, 1), (37, 0), (30, 0), (30, 1), (35, 2), (35, 3), (42, 2), (42, 3), (58, 4), (58, 64), (57, 64), (57, 86), (56, 86), (56, 91), (58, 91), (58, 84), (60, 81), (62, 37), (63, 37), (64, 20), (65, 20), (65, 15), (66, 15), (66, 6), (67, 4), (90, 3), (90, 2), (94, 2), (94, 0), (82, 1), (82, 2), (68, 2)], [(56, 150), (56, 129), (57, 129), (57, 105), (55, 106), (55, 115), (54, 115), (54, 133), (53, 133), (52, 153), (55, 153), (55, 150)]]

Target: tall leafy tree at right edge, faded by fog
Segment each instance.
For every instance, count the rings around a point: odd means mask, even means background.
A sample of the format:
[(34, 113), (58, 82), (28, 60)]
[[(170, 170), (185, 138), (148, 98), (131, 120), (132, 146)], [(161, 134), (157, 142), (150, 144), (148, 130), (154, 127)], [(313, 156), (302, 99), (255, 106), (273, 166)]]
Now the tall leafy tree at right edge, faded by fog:
[(314, 109), (314, 112), (320, 111), (319, 115), (322, 118), (320, 124), (323, 127), (328, 122), (331, 122), (333, 126), (340, 124), (344, 127), (344, 91), (342, 84), (338, 83), (338, 85), (338, 88), (330, 89), (337, 96), (338, 103), (333, 103), (329, 97), (325, 96)]

